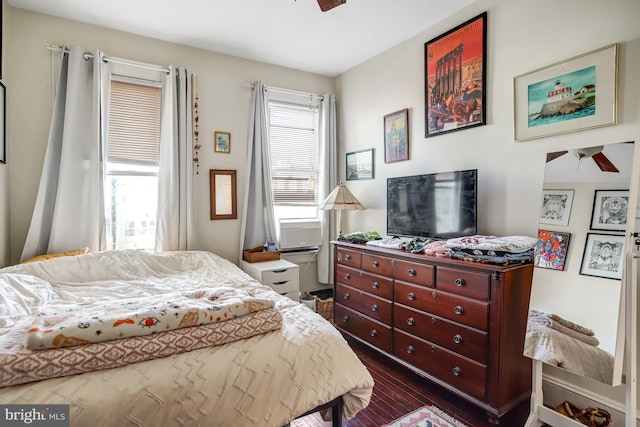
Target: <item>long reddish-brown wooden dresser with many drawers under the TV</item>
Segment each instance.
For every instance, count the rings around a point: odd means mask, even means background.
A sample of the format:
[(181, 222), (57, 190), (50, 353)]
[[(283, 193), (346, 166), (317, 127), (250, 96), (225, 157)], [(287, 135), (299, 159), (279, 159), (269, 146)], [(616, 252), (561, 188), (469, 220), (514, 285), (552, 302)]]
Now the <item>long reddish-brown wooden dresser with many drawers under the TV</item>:
[(341, 331), (483, 408), (491, 423), (529, 399), (532, 264), (332, 243)]

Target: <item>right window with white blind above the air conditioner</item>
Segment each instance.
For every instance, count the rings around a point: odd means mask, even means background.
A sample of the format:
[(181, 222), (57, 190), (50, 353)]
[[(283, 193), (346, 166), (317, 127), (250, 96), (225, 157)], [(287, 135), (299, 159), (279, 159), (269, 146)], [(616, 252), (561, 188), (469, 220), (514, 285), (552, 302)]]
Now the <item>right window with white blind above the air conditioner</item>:
[(269, 101), (269, 148), (276, 221), (318, 217), (318, 107)]

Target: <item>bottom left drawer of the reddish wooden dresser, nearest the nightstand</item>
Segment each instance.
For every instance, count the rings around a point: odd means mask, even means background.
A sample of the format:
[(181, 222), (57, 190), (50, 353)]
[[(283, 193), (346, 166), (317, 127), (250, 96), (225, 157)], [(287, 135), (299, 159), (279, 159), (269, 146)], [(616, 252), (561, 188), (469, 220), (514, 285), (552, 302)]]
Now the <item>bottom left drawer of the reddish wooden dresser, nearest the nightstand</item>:
[(391, 353), (390, 326), (375, 321), (337, 302), (335, 304), (334, 323), (336, 326), (352, 333), (380, 350)]

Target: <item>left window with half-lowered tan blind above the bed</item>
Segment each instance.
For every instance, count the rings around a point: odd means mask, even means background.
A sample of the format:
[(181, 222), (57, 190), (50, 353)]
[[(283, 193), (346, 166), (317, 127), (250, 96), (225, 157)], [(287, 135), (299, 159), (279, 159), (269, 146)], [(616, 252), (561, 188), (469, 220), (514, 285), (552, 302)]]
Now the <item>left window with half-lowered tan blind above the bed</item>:
[(105, 179), (109, 249), (155, 246), (161, 97), (159, 84), (111, 81)]

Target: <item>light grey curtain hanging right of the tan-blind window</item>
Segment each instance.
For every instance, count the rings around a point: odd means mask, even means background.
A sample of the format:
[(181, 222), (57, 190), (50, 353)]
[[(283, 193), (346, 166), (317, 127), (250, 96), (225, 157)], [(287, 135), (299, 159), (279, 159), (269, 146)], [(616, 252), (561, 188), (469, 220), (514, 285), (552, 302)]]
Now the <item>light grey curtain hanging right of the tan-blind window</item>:
[(191, 73), (169, 66), (162, 88), (156, 251), (196, 247)]

